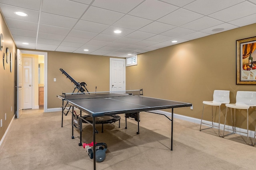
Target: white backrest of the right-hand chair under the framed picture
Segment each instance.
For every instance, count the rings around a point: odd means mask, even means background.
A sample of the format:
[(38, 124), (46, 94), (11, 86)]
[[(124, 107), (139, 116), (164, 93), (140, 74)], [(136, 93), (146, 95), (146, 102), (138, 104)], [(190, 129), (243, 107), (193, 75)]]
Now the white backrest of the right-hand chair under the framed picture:
[(256, 106), (256, 92), (237, 91), (236, 105)]

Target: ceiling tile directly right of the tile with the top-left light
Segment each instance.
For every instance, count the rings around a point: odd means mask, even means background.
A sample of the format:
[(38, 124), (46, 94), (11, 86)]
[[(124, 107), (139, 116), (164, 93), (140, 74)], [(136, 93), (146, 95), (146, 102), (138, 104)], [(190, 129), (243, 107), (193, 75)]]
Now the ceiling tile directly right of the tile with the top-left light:
[[(49, 19), (51, 18), (51, 19)], [(41, 13), (40, 24), (60, 26), (64, 28), (73, 28), (78, 20), (75, 18), (69, 18), (66, 16), (48, 14), (45, 12)]]

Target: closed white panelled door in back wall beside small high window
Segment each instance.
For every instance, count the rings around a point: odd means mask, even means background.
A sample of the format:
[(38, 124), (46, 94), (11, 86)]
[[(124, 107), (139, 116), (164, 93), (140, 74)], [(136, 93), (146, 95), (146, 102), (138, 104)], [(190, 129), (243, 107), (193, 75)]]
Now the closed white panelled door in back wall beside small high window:
[(110, 58), (110, 91), (125, 90), (125, 59)]

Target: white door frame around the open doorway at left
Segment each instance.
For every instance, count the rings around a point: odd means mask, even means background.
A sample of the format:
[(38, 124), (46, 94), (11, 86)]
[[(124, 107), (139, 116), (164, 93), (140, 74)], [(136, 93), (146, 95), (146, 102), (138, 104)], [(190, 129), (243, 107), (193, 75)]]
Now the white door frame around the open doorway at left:
[[(36, 55), (44, 55), (44, 112), (48, 112), (47, 110), (47, 77), (48, 77), (48, 53), (47, 52), (39, 52), (39, 51), (28, 51), (28, 50), (20, 50), (23, 54), (36, 54)], [(34, 60), (32, 59), (32, 64)], [(34, 72), (32, 72), (32, 77), (34, 77)], [(32, 86), (34, 86), (34, 81), (32, 81)], [(33, 90), (32, 90), (33, 94)], [(32, 95), (32, 108), (34, 103), (34, 95)]]

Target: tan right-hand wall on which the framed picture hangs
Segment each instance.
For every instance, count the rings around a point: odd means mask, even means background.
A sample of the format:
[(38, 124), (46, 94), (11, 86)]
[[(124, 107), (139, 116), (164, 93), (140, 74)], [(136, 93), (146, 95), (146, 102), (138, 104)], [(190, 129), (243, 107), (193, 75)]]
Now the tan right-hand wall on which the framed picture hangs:
[[(236, 85), (236, 40), (256, 36), (255, 30), (256, 24), (252, 24), (140, 54), (137, 66), (126, 67), (126, 89), (143, 88), (144, 96), (191, 102), (193, 110), (177, 108), (174, 112), (201, 118), (202, 101), (211, 101), (214, 90), (230, 90), (230, 102), (235, 102), (238, 90), (256, 90), (255, 85)], [(226, 107), (221, 110), (224, 124)], [(205, 111), (210, 112), (211, 108), (206, 107)], [(246, 128), (246, 114), (242, 113), (237, 126)], [(210, 116), (206, 119), (211, 120)], [(250, 130), (254, 131), (255, 120), (254, 112), (249, 120)]]

